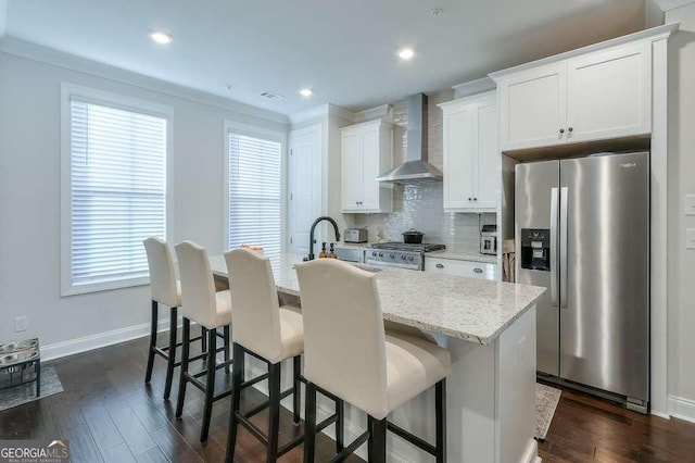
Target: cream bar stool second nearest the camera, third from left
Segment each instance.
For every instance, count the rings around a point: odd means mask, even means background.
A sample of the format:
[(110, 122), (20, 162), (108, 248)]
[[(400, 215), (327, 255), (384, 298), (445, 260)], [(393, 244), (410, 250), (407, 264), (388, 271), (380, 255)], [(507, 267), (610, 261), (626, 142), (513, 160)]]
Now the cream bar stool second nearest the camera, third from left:
[[(249, 429), (266, 446), (266, 462), (275, 462), (286, 452), (304, 440), (304, 436), (279, 446), (280, 400), (293, 395), (294, 423), (300, 423), (301, 408), (301, 354), (304, 351), (304, 328), (299, 308), (279, 305), (278, 292), (270, 267), (270, 261), (260, 252), (236, 249), (225, 254), (229, 274), (229, 289), (235, 308), (233, 325), (233, 366), (232, 402), (229, 416), (229, 437), (227, 440), (228, 463), (233, 461), (239, 424)], [(243, 381), (244, 354), (253, 355), (267, 363), (268, 373), (247, 383)], [(280, 390), (281, 363), (293, 359), (293, 385), (291, 389)], [(268, 378), (267, 402), (253, 410), (241, 413), (241, 389), (250, 384)], [(251, 423), (251, 416), (269, 406), (267, 435)], [(337, 426), (337, 446), (342, 450), (343, 403), (336, 403), (336, 415), (319, 426)]]

